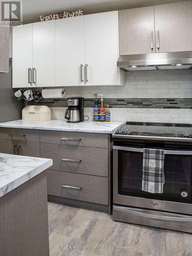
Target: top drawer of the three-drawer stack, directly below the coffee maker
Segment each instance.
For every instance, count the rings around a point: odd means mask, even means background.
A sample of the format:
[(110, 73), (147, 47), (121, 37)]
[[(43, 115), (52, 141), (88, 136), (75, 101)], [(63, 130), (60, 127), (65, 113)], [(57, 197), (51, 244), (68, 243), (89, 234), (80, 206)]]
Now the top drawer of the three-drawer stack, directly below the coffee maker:
[(40, 142), (108, 148), (108, 134), (40, 131)]

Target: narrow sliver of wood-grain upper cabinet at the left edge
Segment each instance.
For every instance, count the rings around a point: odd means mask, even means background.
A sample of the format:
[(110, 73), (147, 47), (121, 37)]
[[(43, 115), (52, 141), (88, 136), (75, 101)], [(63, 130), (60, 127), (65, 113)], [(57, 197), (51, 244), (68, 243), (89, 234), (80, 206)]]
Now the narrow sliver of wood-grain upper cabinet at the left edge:
[(0, 27), (0, 72), (9, 72), (9, 27)]

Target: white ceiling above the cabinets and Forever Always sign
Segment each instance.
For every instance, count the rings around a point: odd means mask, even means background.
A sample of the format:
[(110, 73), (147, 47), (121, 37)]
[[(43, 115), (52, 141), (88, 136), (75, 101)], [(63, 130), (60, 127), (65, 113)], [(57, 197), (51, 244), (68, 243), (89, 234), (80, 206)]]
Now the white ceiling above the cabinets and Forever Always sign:
[(83, 14), (131, 9), (186, 0), (23, 0), (23, 23), (40, 21), (40, 15), (82, 10)]

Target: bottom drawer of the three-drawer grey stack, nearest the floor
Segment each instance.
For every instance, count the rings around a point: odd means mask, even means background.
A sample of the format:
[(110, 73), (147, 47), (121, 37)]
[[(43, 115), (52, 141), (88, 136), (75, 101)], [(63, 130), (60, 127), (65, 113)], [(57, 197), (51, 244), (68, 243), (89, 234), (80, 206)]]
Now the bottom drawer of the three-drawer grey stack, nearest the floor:
[(108, 178), (57, 170), (47, 170), (47, 173), (48, 195), (108, 205)]

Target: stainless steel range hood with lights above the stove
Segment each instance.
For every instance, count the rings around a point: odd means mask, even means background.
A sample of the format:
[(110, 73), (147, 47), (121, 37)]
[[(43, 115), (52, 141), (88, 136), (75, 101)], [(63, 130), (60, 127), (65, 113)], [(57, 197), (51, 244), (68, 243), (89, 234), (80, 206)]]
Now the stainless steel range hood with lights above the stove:
[(192, 69), (192, 51), (120, 55), (117, 67), (125, 71)]

